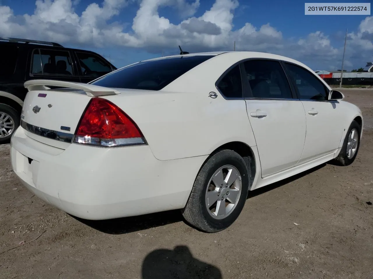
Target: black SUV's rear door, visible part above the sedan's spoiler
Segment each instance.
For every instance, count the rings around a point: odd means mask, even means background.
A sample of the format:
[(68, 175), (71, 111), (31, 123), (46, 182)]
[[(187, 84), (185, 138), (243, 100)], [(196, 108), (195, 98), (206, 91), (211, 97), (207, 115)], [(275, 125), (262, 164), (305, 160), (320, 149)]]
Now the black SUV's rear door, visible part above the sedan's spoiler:
[(29, 78), (80, 82), (70, 51), (36, 48), (32, 50)]

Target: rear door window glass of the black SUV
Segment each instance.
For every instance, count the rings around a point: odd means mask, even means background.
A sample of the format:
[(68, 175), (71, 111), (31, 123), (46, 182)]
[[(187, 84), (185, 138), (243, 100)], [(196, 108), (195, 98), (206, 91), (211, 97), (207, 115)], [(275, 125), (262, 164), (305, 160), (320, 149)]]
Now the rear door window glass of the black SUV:
[(73, 69), (68, 51), (34, 49), (32, 52), (31, 74), (72, 76)]

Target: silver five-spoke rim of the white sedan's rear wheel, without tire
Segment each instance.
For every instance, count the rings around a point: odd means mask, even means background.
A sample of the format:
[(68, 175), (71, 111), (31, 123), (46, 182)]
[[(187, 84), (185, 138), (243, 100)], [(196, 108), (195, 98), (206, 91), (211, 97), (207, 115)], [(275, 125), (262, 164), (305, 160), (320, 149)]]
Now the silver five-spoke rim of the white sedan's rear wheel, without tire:
[(241, 176), (230, 165), (219, 168), (211, 177), (206, 191), (206, 207), (214, 219), (223, 219), (235, 209), (241, 195)]

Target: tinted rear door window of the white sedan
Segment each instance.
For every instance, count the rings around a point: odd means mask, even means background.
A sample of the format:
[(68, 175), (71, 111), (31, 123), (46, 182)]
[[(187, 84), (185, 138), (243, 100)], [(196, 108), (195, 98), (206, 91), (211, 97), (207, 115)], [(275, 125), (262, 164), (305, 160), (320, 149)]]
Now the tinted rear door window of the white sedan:
[(244, 67), (254, 98), (292, 99), (290, 85), (280, 62), (248, 60)]

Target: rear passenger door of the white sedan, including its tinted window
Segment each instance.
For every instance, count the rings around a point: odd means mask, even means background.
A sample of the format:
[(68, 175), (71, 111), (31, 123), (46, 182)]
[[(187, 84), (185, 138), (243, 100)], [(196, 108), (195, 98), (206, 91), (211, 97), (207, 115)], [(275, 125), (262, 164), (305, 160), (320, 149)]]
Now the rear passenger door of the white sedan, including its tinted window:
[(243, 69), (244, 80), (251, 89), (245, 98), (246, 108), (258, 148), (261, 176), (294, 167), (301, 158), (306, 133), (302, 103), (293, 97), (279, 61), (248, 60), (243, 62)]

